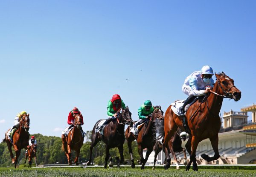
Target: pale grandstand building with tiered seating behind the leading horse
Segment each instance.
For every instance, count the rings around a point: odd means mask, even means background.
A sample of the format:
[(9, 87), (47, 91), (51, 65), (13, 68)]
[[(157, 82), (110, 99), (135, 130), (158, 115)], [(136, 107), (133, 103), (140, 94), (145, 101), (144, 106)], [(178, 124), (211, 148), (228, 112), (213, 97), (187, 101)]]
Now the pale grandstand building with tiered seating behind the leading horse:
[[(248, 121), (247, 113), (252, 112), (252, 120)], [(241, 111), (224, 112), (223, 127), (219, 131), (219, 154), (218, 160), (207, 162), (201, 154), (213, 156), (212, 145), (209, 139), (199, 143), (196, 158), (198, 164), (255, 164), (256, 163), (256, 105), (241, 108)], [(184, 148), (186, 141), (182, 143)], [(143, 155), (145, 157), (145, 152)], [(182, 162), (184, 154), (177, 154), (177, 159)], [(187, 159), (189, 154), (186, 153)], [(172, 157), (171, 157), (172, 158)], [(156, 164), (161, 165), (165, 160), (165, 154), (161, 151), (157, 156)], [(154, 163), (154, 151), (148, 158), (148, 165)], [(175, 164), (172, 158), (172, 164)]]

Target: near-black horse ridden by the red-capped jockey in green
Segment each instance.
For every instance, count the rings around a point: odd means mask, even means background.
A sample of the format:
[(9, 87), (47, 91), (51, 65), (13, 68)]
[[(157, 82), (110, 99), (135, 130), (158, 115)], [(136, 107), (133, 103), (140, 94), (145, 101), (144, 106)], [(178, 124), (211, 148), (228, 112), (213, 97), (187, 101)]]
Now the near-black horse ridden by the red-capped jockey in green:
[[(105, 157), (104, 168), (107, 168), (108, 159), (109, 157), (111, 157), (109, 154), (110, 148), (117, 147), (119, 150), (121, 160), (119, 160), (119, 158), (116, 158), (118, 162), (117, 166), (119, 167), (120, 164), (124, 162), (123, 144), (125, 142), (125, 134), (124, 134), (125, 124), (132, 126), (133, 120), (131, 119), (131, 112), (129, 111), (128, 106), (126, 106), (126, 108), (120, 108), (117, 111), (117, 114), (118, 116), (116, 117), (116, 120), (111, 121), (105, 126), (103, 130), (104, 135), (100, 134), (99, 132), (95, 133), (96, 126), (102, 120), (99, 120), (93, 127), (93, 131), (91, 135), (92, 142), (90, 144), (90, 158), (89, 158), (89, 161), (86, 163), (87, 166), (89, 166), (92, 161), (93, 147), (96, 146), (96, 144), (101, 140), (106, 144), (106, 157)], [(109, 164), (109, 166), (112, 167), (112, 159), (110, 160), (111, 160), (111, 163)]]

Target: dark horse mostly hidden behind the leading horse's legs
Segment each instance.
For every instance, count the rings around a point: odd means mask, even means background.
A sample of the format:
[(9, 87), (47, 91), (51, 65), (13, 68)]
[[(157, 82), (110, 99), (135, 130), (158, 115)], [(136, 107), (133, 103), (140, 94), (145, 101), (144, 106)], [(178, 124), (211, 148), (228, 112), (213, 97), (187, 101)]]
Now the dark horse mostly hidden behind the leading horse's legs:
[[(156, 128), (157, 128), (157, 125), (156, 125)], [(183, 138), (183, 137), (180, 137), (179, 134), (177, 133), (177, 131), (175, 131), (175, 134), (174, 136), (172, 137), (172, 139), (169, 141), (168, 143), (168, 146), (169, 146), (169, 154), (172, 153), (172, 157), (174, 158), (174, 161), (175, 161), (175, 165), (176, 165), (176, 169), (180, 169), (178, 163), (177, 163), (177, 157), (176, 157), (176, 154), (175, 152), (183, 152), (184, 153), (184, 162), (183, 164), (186, 166), (187, 162), (186, 162), (186, 149), (181, 147), (181, 144), (182, 144), (182, 141), (185, 141), (186, 140), (186, 137)], [(155, 163), (157, 161), (157, 155), (158, 153), (162, 150), (163, 148), (163, 144), (160, 143), (159, 141), (156, 142), (156, 144), (154, 145), (154, 152), (155, 152), (155, 155), (154, 155), (154, 166), (153, 166), (153, 170), (155, 169)], [(166, 159), (165, 159), (165, 162), (166, 162)]]

